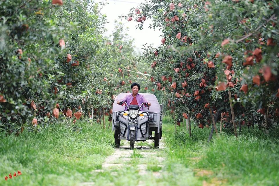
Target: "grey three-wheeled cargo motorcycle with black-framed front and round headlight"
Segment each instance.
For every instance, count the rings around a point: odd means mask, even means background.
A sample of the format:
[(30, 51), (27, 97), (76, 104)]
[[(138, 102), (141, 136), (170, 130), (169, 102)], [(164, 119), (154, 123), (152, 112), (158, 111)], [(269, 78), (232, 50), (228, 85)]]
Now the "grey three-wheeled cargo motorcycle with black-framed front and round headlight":
[[(150, 107), (145, 107), (143, 103), (140, 106), (127, 105), (126, 102), (117, 104), (118, 100), (125, 98), (130, 93), (120, 93), (117, 95), (112, 105), (112, 130), (114, 131), (115, 147), (119, 148), (120, 140), (130, 141), (130, 148), (133, 149), (135, 141), (154, 140), (154, 147), (159, 148), (159, 142), (162, 138), (162, 104), (159, 104), (153, 94), (144, 93), (144, 98), (151, 103)], [(140, 93), (141, 94), (141, 93)], [(124, 110), (127, 106), (128, 110)], [(140, 108), (143, 111), (140, 111)], [(154, 136), (152, 136), (154, 131)]]

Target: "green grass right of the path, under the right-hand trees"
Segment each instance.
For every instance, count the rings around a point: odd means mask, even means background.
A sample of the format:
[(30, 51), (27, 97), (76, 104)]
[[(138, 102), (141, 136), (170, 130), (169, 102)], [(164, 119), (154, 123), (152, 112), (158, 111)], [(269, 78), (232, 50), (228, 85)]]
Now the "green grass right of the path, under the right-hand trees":
[(208, 144), (209, 132), (192, 126), (192, 137), (186, 127), (178, 127), (176, 135), (169, 133), (168, 171), (179, 163), (197, 174), (212, 172), (199, 178), (209, 183), (217, 179), (221, 185), (279, 185), (278, 129), (267, 136), (256, 127), (244, 127), (237, 139), (232, 132), (219, 138), (214, 134)]

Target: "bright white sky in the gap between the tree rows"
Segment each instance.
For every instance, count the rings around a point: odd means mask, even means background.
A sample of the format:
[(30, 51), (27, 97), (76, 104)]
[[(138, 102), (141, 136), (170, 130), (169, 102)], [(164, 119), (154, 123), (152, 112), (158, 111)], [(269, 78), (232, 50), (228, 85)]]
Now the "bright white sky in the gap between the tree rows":
[[(96, 0), (97, 2), (103, 2), (101, 0)], [(127, 21), (125, 19), (118, 19), (118, 16), (127, 15), (129, 13), (130, 8), (137, 7), (140, 3), (144, 3), (145, 0), (106, 0), (109, 4), (106, 4), (103, 9), (101, 10), (102, 14), (105, 14), (107, 16), (107, 20), (110, 22), (105, 25), (105, 28), (108, 29), (107, 36), (112, 34), (115, 24), (114, 20), (117, 20), (118, 22), (122, 22), (125, 27), (129, 28), (128, 35), (131, 38), (134, 38), (134, 45), (135, 45), (135, 51), (141, 51), (142, 46), (144, 44), (153, 44), (154, 47), (158, 47), (161, 44), (161, 37), (162, 31), (159, 31), (159, 29), (149, 29), (149, 24), (152, 23), (151, 19), (146, 19), (144, 21), (144, 27), (142, 30), (137, 29), (135, 30), (135, 25), (138, 24), (138, 22), (135, 22), (134, 19), (132, 21)], [(100, 6), (99, 6), (100, 7)]]

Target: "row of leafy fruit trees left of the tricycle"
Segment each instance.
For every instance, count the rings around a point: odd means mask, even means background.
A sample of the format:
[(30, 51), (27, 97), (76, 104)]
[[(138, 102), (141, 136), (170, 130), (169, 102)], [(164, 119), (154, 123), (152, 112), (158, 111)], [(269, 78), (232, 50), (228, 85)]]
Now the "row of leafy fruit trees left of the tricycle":
[[(1, 1), (0, 125), (19, 134), (56, 118), (108, 115), (132, 82), (149, 87), (122, 24), (112, 40), (89, 1)], [(150, 88), (151, 90), (151, 88)], [(103, 113), (104, 111), (104, 113)], [(64, 116), (65, 117), (64, 117)], [(72, 118), (73, 117), (73, 118)], [(33, 125), (33, 126), (32, 126)]]

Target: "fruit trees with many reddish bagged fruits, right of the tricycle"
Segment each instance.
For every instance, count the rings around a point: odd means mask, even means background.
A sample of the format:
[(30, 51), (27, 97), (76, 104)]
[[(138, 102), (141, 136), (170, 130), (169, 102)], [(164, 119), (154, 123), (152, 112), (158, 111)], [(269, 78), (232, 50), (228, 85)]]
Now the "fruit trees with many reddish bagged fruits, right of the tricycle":
[(178, 125), (191, 115), (208, 126), (213, 110), (224, 127), (268, 130), (279, 116), (278, 10), (275, 0), (147, 1), (123, 18), (162, 29), (162, 45), (146, 46), (143, 59)]

